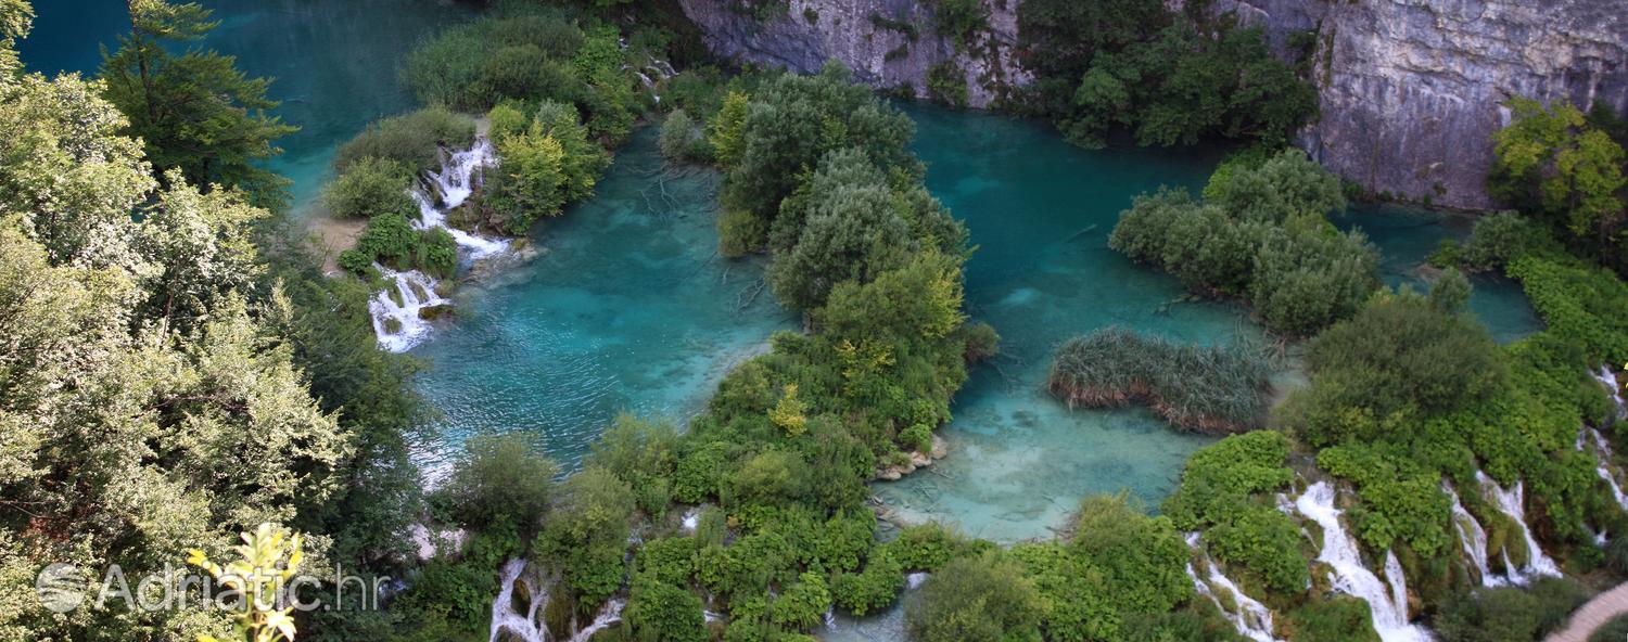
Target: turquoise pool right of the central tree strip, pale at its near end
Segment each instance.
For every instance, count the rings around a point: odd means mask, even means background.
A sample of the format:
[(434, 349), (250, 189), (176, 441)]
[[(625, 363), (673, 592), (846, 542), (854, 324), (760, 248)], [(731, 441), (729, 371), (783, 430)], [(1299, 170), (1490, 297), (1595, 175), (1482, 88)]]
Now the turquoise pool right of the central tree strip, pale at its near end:
[[(1166, 275), (1107, 247), (1118, 213), (1159, 185), (1200, 189), (1216, 148), (1086, 151), (1042, 124), (908, 106), (928, 187), (978, 245), (967, 263), (967, 307), (995, 325), (1001, 358), (978, 367), (943, 429), (951, 455), (931, 470), (874, 484), (905, 520), (941, 520), (996, 541), (1047, 538), (1078, 501), (1120, 492), (1156, 507), (1182, 465), (1211, 437), (1172, 431), (1146, 410), (1070, 411), (1042, 390), (1055, 346), (1120, 325), (1177, 341), (1262, 340), (1237, 304), (1175, 302)], [(1413, 268), (1467, 223), (1402, 208), (1353, 208), (1385, 254), (1387, 283), (1421, 283)], [(1472, 307), (1501, 340), (1540, 328), (1519, 286), (1477, 278)], [(1291, 379), (1284, 375), (1283, 379)]]

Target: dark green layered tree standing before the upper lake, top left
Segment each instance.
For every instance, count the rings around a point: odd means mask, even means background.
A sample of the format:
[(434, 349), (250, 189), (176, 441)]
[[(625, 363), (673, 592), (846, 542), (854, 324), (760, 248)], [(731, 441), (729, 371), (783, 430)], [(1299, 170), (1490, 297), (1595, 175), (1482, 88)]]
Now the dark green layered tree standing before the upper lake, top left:
[(280, 203), (288, 180), (257, 166), (278, 154), (274, 141), (298, 132), (269, 115), (269, 78), (247, 78), (236, 60), (212, 50), (171, 54), (220, 23), (197, 3), (129, 0), (132, 29), (119, 50), (103, 52), (104, 96), (130, 120), (125, 133), (147, 145), (160, 171), (179, 169), (194, 185), (239, 187), (257, 205)]

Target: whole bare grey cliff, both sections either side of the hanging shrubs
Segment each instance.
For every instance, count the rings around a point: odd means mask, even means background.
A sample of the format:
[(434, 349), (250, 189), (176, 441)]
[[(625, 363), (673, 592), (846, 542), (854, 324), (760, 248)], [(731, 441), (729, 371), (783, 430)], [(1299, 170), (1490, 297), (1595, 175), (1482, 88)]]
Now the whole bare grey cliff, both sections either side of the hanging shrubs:
[[(962, 52), (934, 36), (928, 0), (790, 0), (767, 21), (733, 10), (736, 0), (681, 0), (724, 57), (798, 72), (838, 59), (861, 81), (923, 98), (930, 70), (947, 60), (974, 107), (1032, 80), (1016, 63), (1021, 2), (985, 0), (990, 29)], [(1341, 177), (1416, 203), (1495, 206), (1485, 177), (1511, 96), (1628, 111), (1628, 0), (1214, 0), (1214, 10), (1265, 26), (1280, 54), (1289, 34), (1315, 31), (1322, 117), (1302, 145)]]

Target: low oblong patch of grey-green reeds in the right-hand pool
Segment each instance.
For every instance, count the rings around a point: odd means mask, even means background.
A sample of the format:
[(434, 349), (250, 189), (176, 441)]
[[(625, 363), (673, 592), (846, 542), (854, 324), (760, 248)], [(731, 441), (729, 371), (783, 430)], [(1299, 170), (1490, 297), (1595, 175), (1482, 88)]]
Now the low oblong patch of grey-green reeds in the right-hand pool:
[(1047, 387), (1070, 408), (1146, 403), (1175, 426), (1239, 432), (1265, 419), (1270, 379), (1260, 349), (1174, 345), (1104, 328), (1058, 348)]

